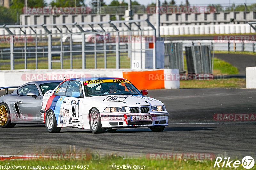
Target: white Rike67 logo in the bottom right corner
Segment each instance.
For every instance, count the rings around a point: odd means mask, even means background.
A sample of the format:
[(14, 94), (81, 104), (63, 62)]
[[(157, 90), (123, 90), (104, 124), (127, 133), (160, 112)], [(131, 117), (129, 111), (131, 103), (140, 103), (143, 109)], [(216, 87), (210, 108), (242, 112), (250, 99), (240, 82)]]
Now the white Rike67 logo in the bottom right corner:
[(254, 159), (251, 156), (245, 156), (242, 161), (240, 160), (230, 160), (230, 157), (225, 157), (224, 159), (222, 159), (221, 157), (217, 157), (214, 163), (214, 168), (217, 166), (222, 167), (222, 168), (232, 168), (232, 166), (234, 168), (238, 168), (240, 165), (242, 165), (245, 169), (251, 169), (254, 166)]

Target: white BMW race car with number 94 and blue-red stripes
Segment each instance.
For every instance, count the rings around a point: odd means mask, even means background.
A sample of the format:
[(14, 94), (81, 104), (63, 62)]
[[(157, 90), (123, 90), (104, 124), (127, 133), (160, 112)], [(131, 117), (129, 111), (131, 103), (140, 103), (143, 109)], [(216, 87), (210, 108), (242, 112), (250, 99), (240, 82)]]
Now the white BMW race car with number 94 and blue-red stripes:
[(147, 94), (123, 78), (67, 79), (43, 96), (40, 112), (50, 133), (62, 127), (93, 133), (135, 127), (163, 131), (169, 114), (164, 103)]

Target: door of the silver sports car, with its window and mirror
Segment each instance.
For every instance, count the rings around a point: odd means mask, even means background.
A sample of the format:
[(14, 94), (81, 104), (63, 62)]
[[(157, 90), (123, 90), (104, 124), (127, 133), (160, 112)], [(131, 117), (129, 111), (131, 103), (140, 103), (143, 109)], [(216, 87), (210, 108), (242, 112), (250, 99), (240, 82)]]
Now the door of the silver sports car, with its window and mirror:
[[(28, 92), (35, 92), (37, 98), (27, 96)], [(18, 89), (18, 97), (16, 103), (18, 105), (20, 115), (24, 118), (28, 118), (28, 121), (40, 121), (41, 120), (41, 99), (39, 90), (35, 84), (28, 84)]]

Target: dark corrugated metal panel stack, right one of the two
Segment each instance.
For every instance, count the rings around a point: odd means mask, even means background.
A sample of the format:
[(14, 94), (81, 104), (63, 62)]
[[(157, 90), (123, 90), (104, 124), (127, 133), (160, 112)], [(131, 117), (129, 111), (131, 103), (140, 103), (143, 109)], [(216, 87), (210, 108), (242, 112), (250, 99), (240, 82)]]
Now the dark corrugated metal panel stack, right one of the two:
[(212, 74), (210, 46), (186, 46), (185, 55), (188, 74)]

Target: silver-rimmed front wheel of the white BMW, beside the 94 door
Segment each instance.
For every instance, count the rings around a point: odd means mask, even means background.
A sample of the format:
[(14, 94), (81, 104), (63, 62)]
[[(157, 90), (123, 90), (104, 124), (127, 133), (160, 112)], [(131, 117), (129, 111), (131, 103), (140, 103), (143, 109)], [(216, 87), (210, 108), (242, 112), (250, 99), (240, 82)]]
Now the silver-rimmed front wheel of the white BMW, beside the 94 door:
[(92, 133), (104, 133), (106, 131), (106, 129), (101, 128), (100, 112), (96, 108), (93, 108), (90, 113), (89, 123)]

